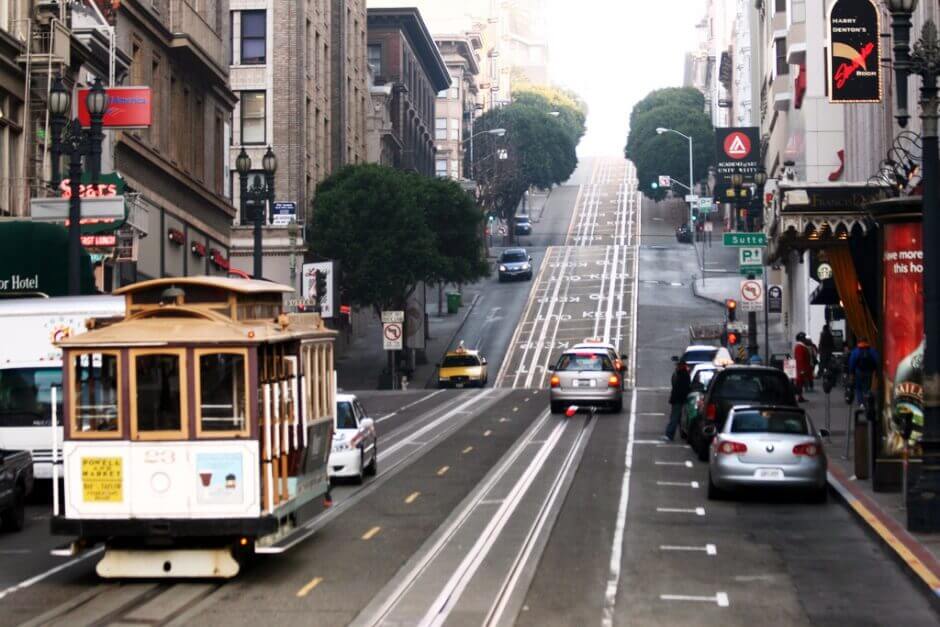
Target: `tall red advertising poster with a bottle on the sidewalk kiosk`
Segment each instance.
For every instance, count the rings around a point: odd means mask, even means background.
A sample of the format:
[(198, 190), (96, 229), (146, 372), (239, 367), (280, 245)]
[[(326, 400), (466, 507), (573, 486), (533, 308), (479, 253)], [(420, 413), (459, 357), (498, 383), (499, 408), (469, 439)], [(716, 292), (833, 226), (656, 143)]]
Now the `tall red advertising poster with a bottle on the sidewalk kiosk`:
[[(920, 223), (884, 225), (884, 454), (916, 447), (924, 425), (924, 253)], [(914, 451), (916, 454), (916, 451)]]

